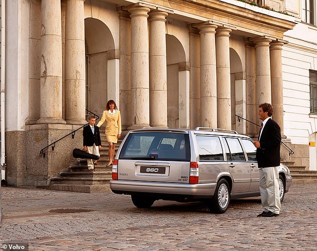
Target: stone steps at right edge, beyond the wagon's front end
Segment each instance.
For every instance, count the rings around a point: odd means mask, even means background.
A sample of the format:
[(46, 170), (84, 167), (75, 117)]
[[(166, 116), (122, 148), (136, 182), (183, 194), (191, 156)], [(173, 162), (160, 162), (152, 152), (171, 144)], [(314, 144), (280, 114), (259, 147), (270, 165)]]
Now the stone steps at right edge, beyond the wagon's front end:
[(290, 170), (293, 184), (317, 184), (317, 171), (306, 170), (304, 165), (294, 165), (294, 161), (281, 161)]

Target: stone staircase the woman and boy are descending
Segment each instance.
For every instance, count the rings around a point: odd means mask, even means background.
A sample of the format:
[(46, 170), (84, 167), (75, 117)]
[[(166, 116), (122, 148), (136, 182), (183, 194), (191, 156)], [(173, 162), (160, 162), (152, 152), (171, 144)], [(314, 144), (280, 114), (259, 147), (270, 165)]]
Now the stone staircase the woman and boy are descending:
[[(101, 133), (100, 133), (101, 134)], [(126, 133), (121, 134), (115, 145), (115, 153), (119, 148), (122, 139)], [(94, 166), (94, 171), (88, 171), (87, 160), (77, 159), (76, 165), (68, 167), (67, 171), (60, 172), (59, 175), (50, 179), (50, 185), (39, 186), (40, 188), (59, 190), (59, 191), (75, 191), (75, 192), (103, 192), (109, 191), (109, 180), (112, 176), (112, 166), (106, 166), (108, 163), (108, 143), (105, 140), (104, 132), (101, 135), (101, 150), (98, 165)]]

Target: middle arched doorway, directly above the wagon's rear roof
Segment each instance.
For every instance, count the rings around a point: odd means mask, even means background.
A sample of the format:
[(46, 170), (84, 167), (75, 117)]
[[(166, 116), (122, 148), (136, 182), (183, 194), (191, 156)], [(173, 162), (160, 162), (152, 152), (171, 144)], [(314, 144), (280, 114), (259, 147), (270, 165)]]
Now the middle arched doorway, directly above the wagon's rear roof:
[[(185, 64), (185, 51), (180, 41), (173, 35), (166, 34), (166, 64), (167, 64), (167, 126), (169, 128), (184, 127), (182, 118), (183, 108), (180, 107), (186, 99), (183, 91), (186, 90), (187, 81)], [(189, 100), (188, 100), (189, 102)], [(179, 121), (179, 119), (181, 121)]]

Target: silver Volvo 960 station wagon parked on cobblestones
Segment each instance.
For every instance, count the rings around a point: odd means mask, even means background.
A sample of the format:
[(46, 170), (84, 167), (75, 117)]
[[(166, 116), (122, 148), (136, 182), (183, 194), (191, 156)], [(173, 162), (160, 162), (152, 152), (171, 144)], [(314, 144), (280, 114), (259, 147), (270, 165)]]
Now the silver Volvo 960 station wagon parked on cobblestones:
[[(131, 130), (113, 161), (110, 188), (130, 194), (137, 207), (150, 207), (158, 199), (205, 201), (210, 211), (223, 213), (231, 198), (260, 195), (255, 151), (250, 137), (232, 130)], [(291, 182), (281, 164), (280, 200)]]

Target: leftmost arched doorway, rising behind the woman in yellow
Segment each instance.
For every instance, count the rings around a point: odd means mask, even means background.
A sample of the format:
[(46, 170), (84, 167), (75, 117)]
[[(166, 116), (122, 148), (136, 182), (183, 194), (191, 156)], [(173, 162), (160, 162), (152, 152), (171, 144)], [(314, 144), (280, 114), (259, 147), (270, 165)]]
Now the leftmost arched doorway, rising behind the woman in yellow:
[(86, 108), (96, 114), (102, 114), (107, 102), (108, 57), (113, 49), (109, 28), (98, 19), (85, 18)]

